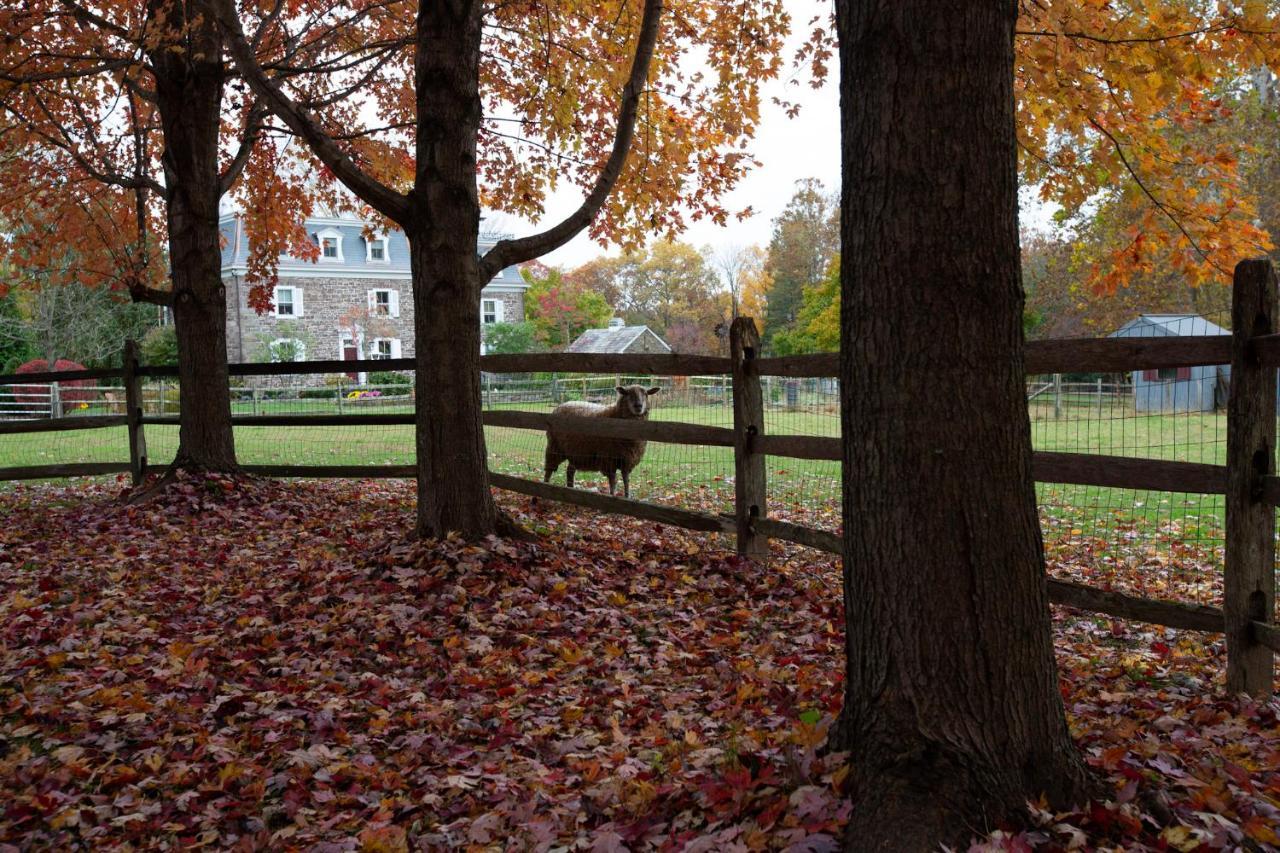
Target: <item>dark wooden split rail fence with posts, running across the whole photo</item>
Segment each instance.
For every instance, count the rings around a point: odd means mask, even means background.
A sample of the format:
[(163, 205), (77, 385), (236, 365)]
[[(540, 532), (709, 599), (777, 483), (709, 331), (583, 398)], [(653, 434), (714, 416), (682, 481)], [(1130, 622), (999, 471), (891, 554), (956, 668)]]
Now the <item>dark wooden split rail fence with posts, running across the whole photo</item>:
[[(1114, 374), (1158, 368), (1231, 365), (1225, 465), (1129, 459), (1087, 453), (1036, 452), (1038, 482), (1100, 485), (1162, 492), (1224, 494), (1226, 551), (1224, 607), (1139, 598), (1083, 584), (1051, 579), (1050, 598), (1060, 605), (1178, 629), (1226, 634), (1228, 686), (1256, 695), (1270, 694), (1280, 628), (1275, 622), (1275, 507), (1280, 503), (1276, 457), (1276, 368), (1280, 366), (1276, 277), (1267, 261), (1244, 261), (1235, 272), (1230, 336), (1192, 338), (1098, 338), (1037, 341), (1027, 345), (1027, 373)], [(579, 419), (532, 411), (485, 411), (484, 423), (530, 430), (561, 425), (573, 433), (646, 439), (676, 444), (731, 447), (735, 460), (735, 512), (714, 515), (673, 506), (571, 489), (536, 480), (490, 473), (490, 484), (544, 500), (617, 512), (681, 528), (736, 537), (744, 556), (765, 560), (769, 539), (782, 539), (831, 553), (841, 553), (838, 534), (769, 517), (768, 456), (841, 460), (838, 438), (768, 434), (764, 430), (762, 377), (832, 378), (838, 375), (836, 353), (759, 357), (759, 339), (749, 319), (731, 329), (731, 355), (488, 355), (481, 369), (494, 374), (579, 373), (662, 377), (728, 375), (733, 426), (678, 421)], [(236, 364), (232, 377), (335, 374), (352, 370), (413, 370), (413, 359), (378, 361), (310, 361)], [(125, 350), (120, 369), (79, 370), (0, 377), (0, 386), (82, 379), (119, 379), (124, 386), (124, 415), (55, 416), (44, 420), (0, 421), (0, 437), (67, 429), (127, 426), (128, 461), (41, 465), (0, 469), (0, 480), (128, 473), (134, 482), (147, 473), (145, 428), (178, 424), (178, 416), (145, 415), (141, 379), (172, 377), (166, 366), (138, 364), (137, 347)], [(234, 415), (237, 426), (343, 426), (412, 424), (413, 414)], [(247, 465), (265, 476), (412, 478), (412, 465)]]

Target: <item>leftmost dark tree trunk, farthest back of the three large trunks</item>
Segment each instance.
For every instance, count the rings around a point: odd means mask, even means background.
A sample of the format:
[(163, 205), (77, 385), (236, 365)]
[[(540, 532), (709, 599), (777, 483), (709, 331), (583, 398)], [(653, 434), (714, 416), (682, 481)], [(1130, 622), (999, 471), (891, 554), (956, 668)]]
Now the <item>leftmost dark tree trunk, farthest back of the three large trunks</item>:
[[(155, 14), (179, 27), (184, 6), (156, 0)], [(155, 15), (154, 15), (155, 17)], [(180, 50), (150, 51), (164, 126), (173, 321), (180, 386), (175, 466), (236, 469), (227, 373), (227, 292), (221, 279), (218, 138), (224, 68), (212, 15), (188, 22)]]

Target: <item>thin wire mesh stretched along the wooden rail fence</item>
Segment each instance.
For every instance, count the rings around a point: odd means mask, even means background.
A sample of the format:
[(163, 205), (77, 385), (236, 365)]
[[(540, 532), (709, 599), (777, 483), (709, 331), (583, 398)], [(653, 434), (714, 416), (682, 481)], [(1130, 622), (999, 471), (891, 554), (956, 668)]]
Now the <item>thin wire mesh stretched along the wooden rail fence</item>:
[[(234, 415), (342, 415), (413, 411), (412, 374), (393, 380), (360, 383), (346, 374), (333, 377), (274, 377), (271, 382), (237, 379), (232, 387)], [(385, 374), (383, 374), (385, 379)], [(481, 383), (488, 410), (552, 412), (568, 401), (611, 403), (617, 386), (644, 384), (660, 392), (650, 397), (652, 420), (672, 420), (731, 428), (730, 378), (636, 375), (495, 375)], [(840, 435), (840, 384), (836, 379), (762, 378), (765, 433)], [(82, 386), (68, 400), (56, 383), (32, 383), (0, 391), (0, 419), (123, 414), (119, 387)], [(1226, 415), (1207, 411), (1139, 411), (1128, 375), (1064, 380), (1030, 377), (1028, 415), (1036, 450), (1100, 453), (1135, 459), (1166, 459), (1222, 464)], [(148, 379), (142, 386), (147, 415), (177, 415), (175, 379)], [(151, 465), (173, 460), (178, 428), (148, 425)], [(237, 456), (246, 465), (410, 465), (413, 462), (411, 425), (326, 425), (236, 428)], [(545, 435), (529, 429), (486, 428), (493, 470), (541, 479)], [(127, 459), (125, 430), (110, 426), (69, 433), (5, 435), (0, 462), (37, 465)], [(835, 529), (840, 515), (840, 464), (771, 456), (767, 461), (769, 514), (812, 526)], [(563, 482), (563, 466), (553, 482)], [(603, 475), (581, 471), (577, 485), (607, 488)], [(639, 500), (716, 512), (732, 511), (733, 452), (650, 442), (631, 478)], [(1042, 483), (1038, 496), (1046, 534), (1078, 537), (1108, 544), (1143, 540), (1156, 549), (1174, 540), (1196, 543), (1210, 552), (1222, 543), (1222, 498), (1211, 494), (1135, 492), (1093, 485)]]

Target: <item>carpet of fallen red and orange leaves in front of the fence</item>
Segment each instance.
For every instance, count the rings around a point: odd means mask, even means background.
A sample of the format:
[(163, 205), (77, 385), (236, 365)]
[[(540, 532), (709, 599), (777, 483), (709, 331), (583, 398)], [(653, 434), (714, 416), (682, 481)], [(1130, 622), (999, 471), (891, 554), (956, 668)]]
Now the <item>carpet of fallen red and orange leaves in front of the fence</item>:
[[(0, 848), (836, 849), (838, 569), (506, 508), (536, 543), (406, 543), (392, 483), (0, 493)], [(1280, 844), (1276, 707), (1216, 639), (1057, 613), (1114, 792), (989, 849)], [(1143, 630), (1146, 629), (1146, 630)]]

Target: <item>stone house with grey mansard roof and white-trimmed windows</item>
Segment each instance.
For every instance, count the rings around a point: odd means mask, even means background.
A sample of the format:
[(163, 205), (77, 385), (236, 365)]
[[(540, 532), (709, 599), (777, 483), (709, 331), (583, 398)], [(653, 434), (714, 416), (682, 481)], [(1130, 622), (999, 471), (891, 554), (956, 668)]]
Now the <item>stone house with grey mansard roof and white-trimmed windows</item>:
[[(413, 355), (413, 291), (403, 232), (366, 234), (356, 216), (314, 216), (316, 261), (284, 255), (273, 310), (248, 306), (248, 240), (242, 219), (219, 219), (227, 286), (227, 355), (237, 361), (398, 359)], [(495, 241), (481, 238), (480, 251)], [(525, 319), (529, 284), (515, 266), (480, 293), (481, 323)]]

